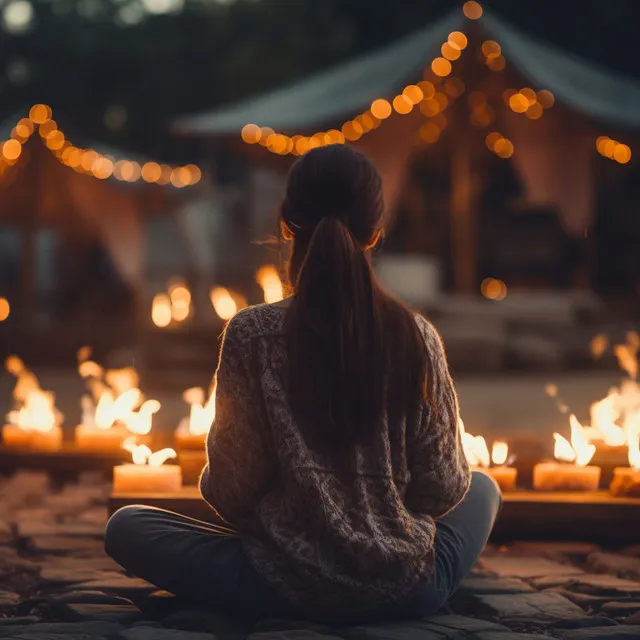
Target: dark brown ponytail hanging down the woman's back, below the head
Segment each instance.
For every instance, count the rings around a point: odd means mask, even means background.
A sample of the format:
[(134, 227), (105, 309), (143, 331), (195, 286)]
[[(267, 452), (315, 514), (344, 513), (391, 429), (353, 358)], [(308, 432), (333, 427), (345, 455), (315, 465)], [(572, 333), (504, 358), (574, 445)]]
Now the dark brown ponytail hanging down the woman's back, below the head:
[(287, 315), (291, 401), (327, 444), (353, 442), (380, 418), (381, 296), (364, 248), (337, 217), (316, 225)]

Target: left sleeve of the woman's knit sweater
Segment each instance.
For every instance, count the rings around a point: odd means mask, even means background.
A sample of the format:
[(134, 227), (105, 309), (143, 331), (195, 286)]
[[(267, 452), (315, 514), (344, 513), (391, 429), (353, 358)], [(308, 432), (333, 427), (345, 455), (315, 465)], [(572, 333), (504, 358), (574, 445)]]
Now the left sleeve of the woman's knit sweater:
[(236, 320), (224, 334), (216, 372), (216, 416), (207, 437), (207, 465), (200, 478), (203, 498), (242, 530), (274, 473), (248, 375), (249, 344)]

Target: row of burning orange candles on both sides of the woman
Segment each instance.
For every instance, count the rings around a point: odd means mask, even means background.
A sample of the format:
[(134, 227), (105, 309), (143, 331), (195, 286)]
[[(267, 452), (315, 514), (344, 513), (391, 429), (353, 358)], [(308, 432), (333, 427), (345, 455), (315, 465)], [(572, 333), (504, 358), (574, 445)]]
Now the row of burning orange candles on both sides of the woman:
[[(601, 337), (600, 345), (602, 349)], [(595, 341), (594, 341), (595, 344)], [(614, 469), (611, 493), (640, 496), (640, 385), (637, 353), (640, 338), (629, 334), (625, 345), (614, 353), (629, 377), (591, 407), (591, 425), (583, 426), (558, 399), (554, 385), (547, 393), (557, 400), (568, 415), (570, 439), (554, 433), (553, 461), (541, 461), (533, 469), (533, 488), (539, 491), (596, 491), (601, 468), (590, 464), (597, 449), (625, 451), (629, 466)], [(160, 409), (154, 399), (145, 399), (138, 388), (135, 369), (105, 370), (90, 359), (91, 352), (78, 352), (78, 371), (87, 385), (82, 398), (82, 420), (75, 429), (75, 447), (86, 452), (131, 453), (133, 462), (114, 468), (117, 492), (172, 492), (182, 486), (183, 467), (189, 467), (193, 480), (205, 463), (204, 443), (215, 417), (215, 385), (208, 393), (196, 387), (187, 389), (183, 398), (190, 407), (175, 431), (180, 456), (174, 449), (152, 452), (149, 436), (153, 416)], [(17, 378), (14, 388), (16, 408), (3, 428), (3, 443), (8, 448), (56, 451), (62, 447), (62, 415), (55, 408), (53, 393), (40, 388), (36, 376), (16, 356), (6, 361), (7, 370)], [(493, 476), (503, 491), (517, 486), (518, 470), (513, 466), (506, 442), (496, 441), (491, 453), (485, 439), (468, 433), (462, 421), (460, 432), (464, 453), (472, 468)], [(180, 464), (164, 464), (179, 458)], [(195, 473), (194, 473), (195, 470)]]

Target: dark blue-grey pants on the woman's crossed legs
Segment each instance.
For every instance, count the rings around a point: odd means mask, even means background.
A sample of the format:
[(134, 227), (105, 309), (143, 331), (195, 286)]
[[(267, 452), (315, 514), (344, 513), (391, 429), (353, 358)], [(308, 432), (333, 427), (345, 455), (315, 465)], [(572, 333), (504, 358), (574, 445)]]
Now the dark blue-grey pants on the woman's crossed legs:
[[(435, 570), (410, 602), (386, 617), (436, 612), (482, 553), (501, 505), (492, 478), (474, 472), (465, 499), (437, 522)], [(244, 619), (301, 617), (251, 566), (233, 531), (152, 507), (117, 511), (107, 553), (127, 571), (181, 599)]]

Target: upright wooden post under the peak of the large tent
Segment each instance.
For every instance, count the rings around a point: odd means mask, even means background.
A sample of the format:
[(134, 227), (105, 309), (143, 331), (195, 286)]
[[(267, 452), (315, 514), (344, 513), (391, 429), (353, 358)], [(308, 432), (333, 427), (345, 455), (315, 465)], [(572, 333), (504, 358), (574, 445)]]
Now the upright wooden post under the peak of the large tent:
[(451, 152), (451, 255), (456, 293), (477, 287), (477, 189), (474, 184), (471, 141), (459, 111), (453, 124)]

